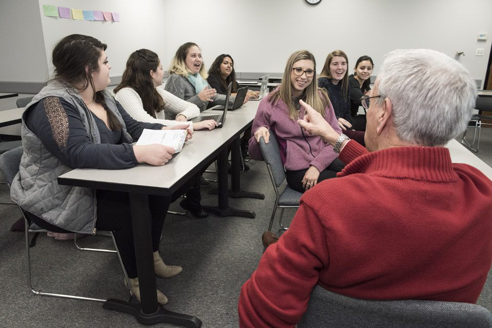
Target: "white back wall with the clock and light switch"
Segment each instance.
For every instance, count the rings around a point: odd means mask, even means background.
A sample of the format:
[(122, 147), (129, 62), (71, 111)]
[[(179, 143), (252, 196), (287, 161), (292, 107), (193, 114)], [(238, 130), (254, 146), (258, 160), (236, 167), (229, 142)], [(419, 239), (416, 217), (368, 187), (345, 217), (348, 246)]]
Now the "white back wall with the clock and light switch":
[[(229, 53), (238, 72), (283, 72), (299, 49), (313, 52), (321, 71), (326, 55), (341, 49), (350, 67), (370, 55), (377, 74), (391, 50), (430, 48), (453, 58), (464, 51), (460, 61), (483, 81), (492, 41), (490, 0), (323, 0), (317, 6), (304, 0), (166, 0), (165, 10), (168, 65), (176, 49), (192, 41), (206, 64)], [(489, 39), (479, 42), (478, 33)], [(484, 56), (475, 56), (476, 48), (484, 48)]]

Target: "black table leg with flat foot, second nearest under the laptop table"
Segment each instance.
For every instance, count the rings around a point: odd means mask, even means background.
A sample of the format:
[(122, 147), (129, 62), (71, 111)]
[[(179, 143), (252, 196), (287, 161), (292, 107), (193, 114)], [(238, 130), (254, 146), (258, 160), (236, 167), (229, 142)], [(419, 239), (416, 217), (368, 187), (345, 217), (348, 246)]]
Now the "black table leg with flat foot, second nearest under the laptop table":
[(242, 217), (254, 218), (256, 214), (253, 211), (236, 210), (229, 207), (228, 190), (227, 190), (228, 189), (227, 155), (228, 155), (227, 147), (224, 147), (224, 149), (217, 156), (219, 206), (218, 207), (203, 206), (203, 209), (219, 216), (242, 216)]

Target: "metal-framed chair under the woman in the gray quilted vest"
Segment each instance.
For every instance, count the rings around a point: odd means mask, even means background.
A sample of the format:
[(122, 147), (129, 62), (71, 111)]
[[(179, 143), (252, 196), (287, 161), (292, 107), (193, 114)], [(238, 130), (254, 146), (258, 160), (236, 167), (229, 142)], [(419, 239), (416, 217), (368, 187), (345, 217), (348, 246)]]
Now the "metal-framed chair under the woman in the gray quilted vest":
[[(0, 172), (2, 175), (5, 177), (5, 179), (8, 182), (8, 186), (10, 187), (15, 175), (19, 171), (19, 165), (20, 165), (20, 159), (23, 154), (23, 148), (18, 147), (13, 150), (10, 150), (8, 152), (5, 152), (4, 154), (0, 155)], [(31, 258), (30, 258), (30, 245), (29, 245), (29, 233), (35, 233), (35, 236), (33, 237), (32, 243), (35, 242), (35, 238), (37, 237), (37, 234), (40, 232), (47, 232), (52, 231), (52, 232), (57, 232), (57, 233), (72, 233), (71, 231), (61, 229), (58, 227), (53, 226), (52, 224), (49, 224), (48, 222), (44, 221), (41, 218), (35, 217), (33, 215), (26, 214), (26, 212), (18, 206), (20, 213), (22, 214), (24, 218), (24, 224), (25, 224), (25, 241), (26, 241), (26, 264), (27, 264), (27, 278), (28, 278), (28, 286), (29, 289), (33, 294), (36, 295), (42, 295), (42, 296), (54, 296), (54, 297), (62, 297), (62, 298), (72, 298), (72, 299), (84, 299), (84, 300), (90, 300), (90, 301), (99, 301), (99, 302), (106, 302), (106, 299), (98, 299), (98, 298), (92, 298), (92, 297), (83, 297), (83, 296), (75, 296), (75, 295), (65, 295), (65, 294), (55, 294), (55, 293), (46, 293), (46, 292), (39, 292), (33, 289), (32, 287), (32, 279), (31, 279)], [(31, 219), (31, 220), (30, 220)], [(30, 221), (33, 223), (31, 224)], [(116, 251), (109, 251), (109, 252), (115, 252), (118, 255), (119, 262), (121, 264), (121, 268), (123, 269), (123, 272), (125, 274), (125, 279), (127, 280), (127, 286), (130, 286), (130, 282), (128, 279), (128, 275), (126, 273), (125, 267), (123, 265), (123, 262), (121, 261), (121, 257), (119, 255), (118, 249), (116, 247), (116, 242), (114, 240), (114, 236), (112, 233), (110, 233), (114, 246), (116, 248)], [(78, 247), (75, 239), (75, 245)], [(108, 252), (107, 250), (95, 250), (99, 252)], [(129, 288), (130, 291), (130, 299), (132, 297), (132, 291)]]

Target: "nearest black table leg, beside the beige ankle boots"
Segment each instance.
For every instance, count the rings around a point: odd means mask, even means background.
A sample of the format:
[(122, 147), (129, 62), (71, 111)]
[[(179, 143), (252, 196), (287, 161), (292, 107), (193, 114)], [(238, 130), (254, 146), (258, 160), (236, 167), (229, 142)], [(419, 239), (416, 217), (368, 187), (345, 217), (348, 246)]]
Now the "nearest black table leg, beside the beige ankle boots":
[(191, 328), (201, 327), (198, 318), (168, 311), (157, 303), (152, 240), (149, 238), (151, 235), (149, 196), (130, 193), (130, 212), (141, 302), (129, 303), (108, 299), (103, 308), (130, 313), (142, 324), (168, 322)]

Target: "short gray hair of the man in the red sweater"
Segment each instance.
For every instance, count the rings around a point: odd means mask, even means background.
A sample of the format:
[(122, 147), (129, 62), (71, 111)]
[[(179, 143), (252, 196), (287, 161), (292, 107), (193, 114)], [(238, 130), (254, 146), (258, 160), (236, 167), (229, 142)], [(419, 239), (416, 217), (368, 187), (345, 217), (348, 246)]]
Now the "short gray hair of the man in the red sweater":
[(466, 129), (477, 86), (457, 60), (428, 50), (388, 53), (378, 74), (376, 102), (392, 103), (393, 122), (402, 141), (444, 145)]

